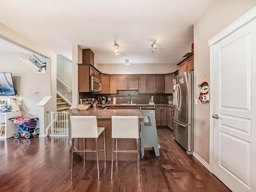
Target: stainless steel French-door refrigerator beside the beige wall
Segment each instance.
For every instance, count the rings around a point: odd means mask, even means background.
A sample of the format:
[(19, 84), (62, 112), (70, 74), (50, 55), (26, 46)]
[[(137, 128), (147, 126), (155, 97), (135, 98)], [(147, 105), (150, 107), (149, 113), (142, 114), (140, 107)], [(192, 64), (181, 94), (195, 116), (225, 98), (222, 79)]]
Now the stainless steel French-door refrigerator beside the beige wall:
[(185, 148), (187, 154), (193, 152), (194, 120), (194, 72), (177, 75), (174, 82), (174, 139)]

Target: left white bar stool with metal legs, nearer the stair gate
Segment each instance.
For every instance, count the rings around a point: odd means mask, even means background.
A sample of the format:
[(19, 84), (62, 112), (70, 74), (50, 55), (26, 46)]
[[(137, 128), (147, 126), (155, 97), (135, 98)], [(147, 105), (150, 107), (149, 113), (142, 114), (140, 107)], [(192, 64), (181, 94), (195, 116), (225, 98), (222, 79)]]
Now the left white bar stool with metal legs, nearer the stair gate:
[[(73, 163), (74, 152), (83, 152), (83, 163), (86, 161), (86, 152), (97, 153), (97, 169), (99, 180), (99, 154), (98, 151), (104, 151), (104, 157), (106, 161), (106, 139), (105, 139), (105, 127), (98, 127), (96, 116), (71, 116), (71, 140), (72, 140), (72, 159), (71, 159), (71, 181), (73, 180)], [(104, 150), (98, 149), (98, 137), (103, 132)], [(83, 138), (83, 150), (74, 150), (74, 139)], [(96, 150), (86, 150), (85, 138), (95, 138)]]

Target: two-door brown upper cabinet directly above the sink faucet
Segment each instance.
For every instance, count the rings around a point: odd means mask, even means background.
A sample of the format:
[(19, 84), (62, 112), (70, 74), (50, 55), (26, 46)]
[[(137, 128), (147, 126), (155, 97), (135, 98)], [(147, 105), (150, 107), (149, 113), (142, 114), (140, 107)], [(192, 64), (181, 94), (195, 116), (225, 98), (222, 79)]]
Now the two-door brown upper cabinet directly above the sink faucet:
[(139, 76), (138, 75), (118, 75), (117, 90), (138, 90)]

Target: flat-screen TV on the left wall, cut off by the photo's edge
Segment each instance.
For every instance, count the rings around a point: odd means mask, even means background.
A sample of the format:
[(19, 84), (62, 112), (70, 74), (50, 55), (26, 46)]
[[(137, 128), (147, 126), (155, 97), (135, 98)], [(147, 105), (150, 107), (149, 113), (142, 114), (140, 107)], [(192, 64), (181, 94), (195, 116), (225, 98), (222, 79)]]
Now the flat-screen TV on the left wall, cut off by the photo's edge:
[(0, 96), (2, 95), (15, 95), (15, 89), (11, 73), (0, 73)]

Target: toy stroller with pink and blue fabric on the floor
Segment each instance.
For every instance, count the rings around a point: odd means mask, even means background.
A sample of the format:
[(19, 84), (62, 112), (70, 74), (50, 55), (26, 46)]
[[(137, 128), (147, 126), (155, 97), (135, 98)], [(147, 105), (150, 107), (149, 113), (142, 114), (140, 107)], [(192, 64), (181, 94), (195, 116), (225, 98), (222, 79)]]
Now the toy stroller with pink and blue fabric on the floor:
[(16, 127), (17, 132), (13, 134), (13, 137), (15, 139), (18, 139), (20, 136), (25, 137), (26, 139), (29, 139), (33, 132), (36, 133), (36, 135), (39, 134), (39, 129), (36, 129), (36, 123), (38, 121), (38, 118), (28, 118), (28, 117), (16, 117), (9, 119), (12, 121)]

